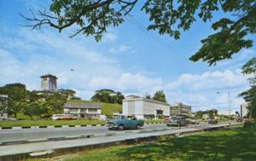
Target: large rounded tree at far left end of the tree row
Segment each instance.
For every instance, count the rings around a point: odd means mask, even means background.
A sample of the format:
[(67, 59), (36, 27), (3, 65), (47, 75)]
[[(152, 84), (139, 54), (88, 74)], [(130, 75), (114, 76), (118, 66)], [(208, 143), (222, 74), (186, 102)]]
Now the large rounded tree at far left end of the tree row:
[(0, 88), (0, 94), (8, 95), (8, 114), (14, 114), (17, 118), (17, 113), (27, 105), (26, 85), (22, 83), (6, 84)]

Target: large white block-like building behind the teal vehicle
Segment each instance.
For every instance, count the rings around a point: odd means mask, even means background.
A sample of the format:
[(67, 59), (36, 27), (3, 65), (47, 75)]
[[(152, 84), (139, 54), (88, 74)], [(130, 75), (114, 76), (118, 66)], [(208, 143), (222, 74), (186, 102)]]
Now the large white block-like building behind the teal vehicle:
[(123, 100), (123, 115), (139, 119), (164, 118), (169, 117), (170, 106), (164, 102), (141, 97), (126, 97)]

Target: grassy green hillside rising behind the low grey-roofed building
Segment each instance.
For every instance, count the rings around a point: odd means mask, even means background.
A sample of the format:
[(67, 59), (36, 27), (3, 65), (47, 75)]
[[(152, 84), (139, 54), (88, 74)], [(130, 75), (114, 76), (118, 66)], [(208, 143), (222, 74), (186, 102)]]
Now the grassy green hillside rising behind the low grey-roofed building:
[(103, 115), (111, 115), (113, 112), (122, 112), (122, 105), (113, 104), (113, 103), (104, 103), (97, 101), (82, 101), (82, 100), (69, 100), (68, 102), (80, 102), (80, 103), (100, 103), (102, 104), (102, 114)]

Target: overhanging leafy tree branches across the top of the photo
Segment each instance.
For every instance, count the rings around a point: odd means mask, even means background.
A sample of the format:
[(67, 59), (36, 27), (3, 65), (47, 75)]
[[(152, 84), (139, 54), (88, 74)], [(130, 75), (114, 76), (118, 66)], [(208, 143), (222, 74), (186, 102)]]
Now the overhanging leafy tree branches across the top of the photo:
[[(76, 26), (74, 37), (79, 33), (94, 36), (100, 41), (108, 26), (119, 26), (125, 16), (137, 4), (137, 0), (53, 0), (49, 11), (38, 11), (23, 18), (32, 22), (32, 29), (51, 26), (59, 32)], [(180, 38), (181, 31), (188, 31), (196, 18), (204, 22), (211, 21), (214, 12), (223, 12), (224, 16), (212, 23), (215, 31), (201, 40), (202, 47), (190, 60), (207, 61), (210, 66), (218, 60), (231, 59), (243, 48), (253, 46), (246, 36), (256, 32), (256, 1), (254, 0), (147, 0), (141, 8), (149, 16), (148, 30)], [(227, 16), (228, 15), (228, 16)]]

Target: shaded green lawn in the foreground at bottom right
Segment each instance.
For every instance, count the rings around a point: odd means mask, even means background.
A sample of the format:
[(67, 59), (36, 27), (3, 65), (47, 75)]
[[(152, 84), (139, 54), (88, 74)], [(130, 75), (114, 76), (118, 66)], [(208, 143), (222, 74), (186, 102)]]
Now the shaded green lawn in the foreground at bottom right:
[(256, 129), (225, 129), (135, 146), (79, 152), (67, 161), (256, 160)]

